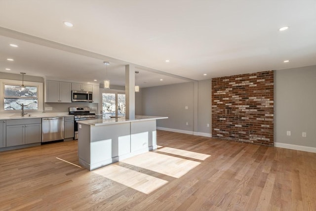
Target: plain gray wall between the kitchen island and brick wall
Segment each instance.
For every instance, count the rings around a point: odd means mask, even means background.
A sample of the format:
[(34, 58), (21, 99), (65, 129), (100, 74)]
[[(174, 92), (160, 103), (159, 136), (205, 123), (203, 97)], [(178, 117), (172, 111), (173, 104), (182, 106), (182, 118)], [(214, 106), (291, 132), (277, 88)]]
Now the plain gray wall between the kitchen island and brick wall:
[(211, 134), (211, 80), (199, 81), (197, 91), (193, 82), (142, 88), (142, 114), (168, 117), (157, 127)]

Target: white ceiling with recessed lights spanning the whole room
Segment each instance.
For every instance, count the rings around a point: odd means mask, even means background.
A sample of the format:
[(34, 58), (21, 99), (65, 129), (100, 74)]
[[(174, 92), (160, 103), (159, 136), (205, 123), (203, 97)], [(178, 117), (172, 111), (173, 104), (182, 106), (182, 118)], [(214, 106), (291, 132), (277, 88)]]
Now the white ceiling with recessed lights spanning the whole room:
[(0, 72), (64, 80), (102, 81), (105, 60), (141, 87), (316, 64), (316, 0), (0, 0), (0, 27)]

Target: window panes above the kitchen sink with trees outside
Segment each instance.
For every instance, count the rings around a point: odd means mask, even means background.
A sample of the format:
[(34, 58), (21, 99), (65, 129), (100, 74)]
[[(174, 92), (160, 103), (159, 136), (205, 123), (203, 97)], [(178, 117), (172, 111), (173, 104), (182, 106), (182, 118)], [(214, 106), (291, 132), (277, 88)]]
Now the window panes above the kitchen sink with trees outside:
[(19, 85), (4, 85), (4, 110), (38, 110), (38, 87), (26, 86), (21, 90)]

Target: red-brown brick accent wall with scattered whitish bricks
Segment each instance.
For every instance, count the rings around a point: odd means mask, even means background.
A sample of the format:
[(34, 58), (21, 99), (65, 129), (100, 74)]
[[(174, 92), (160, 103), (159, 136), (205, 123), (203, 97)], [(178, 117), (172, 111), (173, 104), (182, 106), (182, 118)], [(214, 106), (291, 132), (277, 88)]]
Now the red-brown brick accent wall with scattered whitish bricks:
[(274, 145), (274, 71), (212, 79), (212, 137)]

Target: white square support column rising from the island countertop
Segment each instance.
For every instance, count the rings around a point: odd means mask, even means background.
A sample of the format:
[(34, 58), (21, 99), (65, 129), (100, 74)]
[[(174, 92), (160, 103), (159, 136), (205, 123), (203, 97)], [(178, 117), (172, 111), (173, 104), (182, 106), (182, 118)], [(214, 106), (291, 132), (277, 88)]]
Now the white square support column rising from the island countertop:
[(125, 65), (125, 118), (135, 119), (135, 67)]

